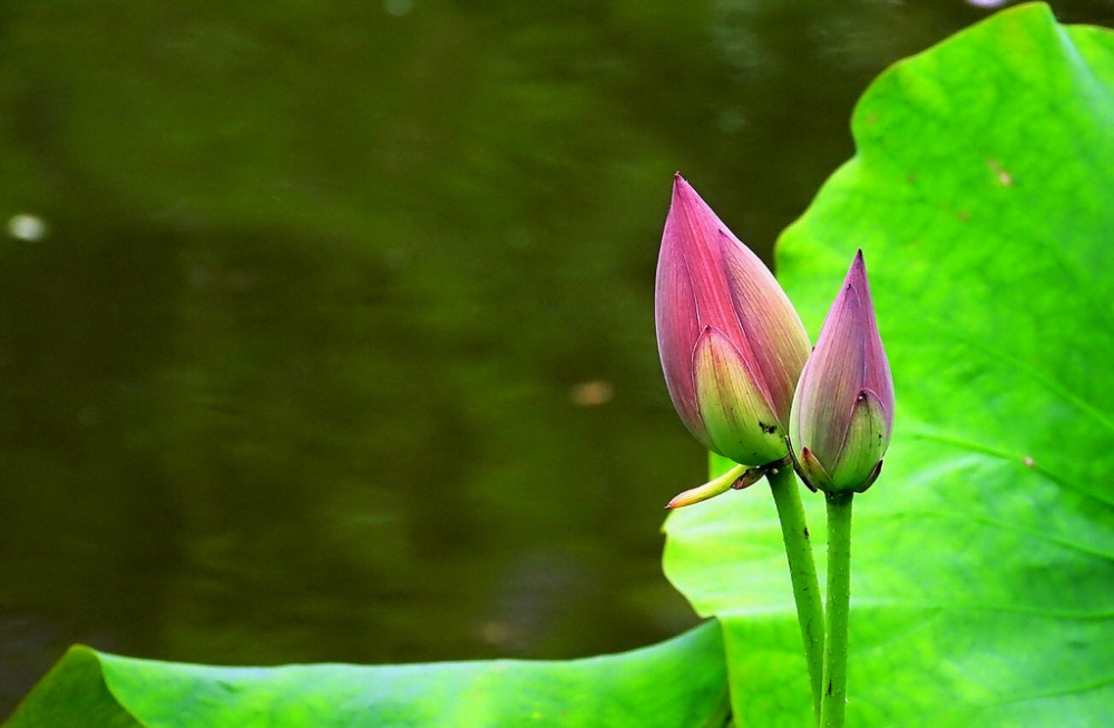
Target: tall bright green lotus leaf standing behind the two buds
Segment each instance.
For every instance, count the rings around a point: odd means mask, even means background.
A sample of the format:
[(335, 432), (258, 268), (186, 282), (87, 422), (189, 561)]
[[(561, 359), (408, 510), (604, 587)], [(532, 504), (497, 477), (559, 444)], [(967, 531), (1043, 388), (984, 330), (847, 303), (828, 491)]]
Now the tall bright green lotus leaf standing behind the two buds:
[[(849, 726), (1114, 716), (1114, 35), (999, 13), (883, 73), (780, 240), (813, 334), (866, 254), (897, 387), (856, 499)], [(823, 562), (823, 509), (805, 501)], [(747, 726), (811, 704), (771, 499), (667, 523)]]

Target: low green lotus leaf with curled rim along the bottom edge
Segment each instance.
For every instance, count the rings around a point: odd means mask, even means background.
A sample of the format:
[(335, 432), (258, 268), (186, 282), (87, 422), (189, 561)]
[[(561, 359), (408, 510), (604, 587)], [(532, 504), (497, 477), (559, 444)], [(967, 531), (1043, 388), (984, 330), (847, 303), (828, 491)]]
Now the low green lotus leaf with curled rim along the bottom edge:
[(565, 662), (228, 668), (74, 647), (8, 728), (722, 726), (715, 621), (661, 645)]

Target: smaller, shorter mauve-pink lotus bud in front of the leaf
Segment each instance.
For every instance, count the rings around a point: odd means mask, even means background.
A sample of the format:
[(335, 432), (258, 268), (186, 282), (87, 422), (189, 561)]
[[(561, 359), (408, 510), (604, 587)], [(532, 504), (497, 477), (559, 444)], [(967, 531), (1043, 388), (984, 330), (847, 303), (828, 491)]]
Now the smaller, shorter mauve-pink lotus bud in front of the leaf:
[(798, 471), (825, 493), (870, 488), (893, 429), (893, 380), (859, 250), (804, 365), (790, 425)]

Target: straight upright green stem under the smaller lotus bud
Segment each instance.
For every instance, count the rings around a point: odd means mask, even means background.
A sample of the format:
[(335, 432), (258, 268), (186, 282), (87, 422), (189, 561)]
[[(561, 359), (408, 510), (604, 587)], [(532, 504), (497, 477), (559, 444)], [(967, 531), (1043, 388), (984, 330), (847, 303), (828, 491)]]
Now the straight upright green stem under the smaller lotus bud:
[(828, 643), (821, 728), (842, 728), (847, 708), (847, 627), (851, 603), (851, 498), (828, 495)]

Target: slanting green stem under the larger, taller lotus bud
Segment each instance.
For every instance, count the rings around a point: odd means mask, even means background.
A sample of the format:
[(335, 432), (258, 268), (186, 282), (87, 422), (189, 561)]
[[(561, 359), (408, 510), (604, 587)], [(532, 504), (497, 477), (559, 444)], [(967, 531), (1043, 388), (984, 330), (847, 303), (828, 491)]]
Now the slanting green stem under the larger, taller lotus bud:
[(817, 564), (812, 559), (809, 527), (804, 523), (801, 489), (797, 484), (797, 478), (790, 465), (771, 469), (766, 473), (766, 480), (770, 481), (773, 501), (778, 505), (778, 518), (781, 520), (781, 535), (785, 541), (789, 574), (793, 581), (793, 598), (797, 600), (797, 620), (801, 624), (804, 659), (809, 663), (812, 707), (819, 720), (820, 686), (823, 675), (824, 609), (820, 599)]

